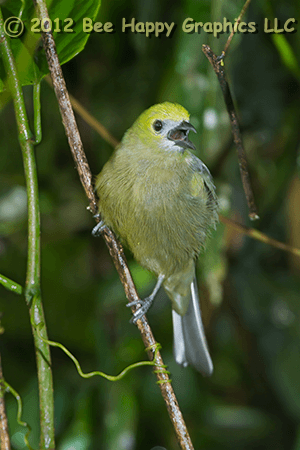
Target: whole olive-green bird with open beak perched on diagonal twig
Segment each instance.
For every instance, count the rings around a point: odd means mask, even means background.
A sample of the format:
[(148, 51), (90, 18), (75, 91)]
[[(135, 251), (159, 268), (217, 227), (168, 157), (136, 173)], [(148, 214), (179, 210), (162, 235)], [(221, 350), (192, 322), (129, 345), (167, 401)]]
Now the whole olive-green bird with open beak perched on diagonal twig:
[(218, 222), (218, 202), (209, 170), (189, 151), (195, 150), (189, 131), (196, 132), (188, 112), (178, 104), (154, 105), (140, 115), (97, 177), (102, 220), (93, 234), (108, 226), (158, 277), (132, 321), (148, 311), (163, 285), (172, 302), (176, 362), (191, 364), (208, 376), (213, 364), (195, 263)]

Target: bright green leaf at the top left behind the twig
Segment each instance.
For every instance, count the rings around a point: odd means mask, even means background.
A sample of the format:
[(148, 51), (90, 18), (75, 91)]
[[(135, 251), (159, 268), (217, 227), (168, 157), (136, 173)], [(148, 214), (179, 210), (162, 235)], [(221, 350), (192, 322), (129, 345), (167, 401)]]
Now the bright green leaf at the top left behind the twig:
[[(46, 0), (60, 64), (66, 63), (84, 49), (90, 33), (83, 31), (83, 19), (94, 21), (100, 3), (101, 0)], [(24, 8), (21, 8), (19, 0), (8, 0), (2, 6), (2, 12), (10, 34), (8, 24), (11, 17), (18, 17), (24, 25), (24, 31), (19, 37), (9, 37), (22, 86), (40, 81), (49, 70), (41, 42), (43, 24), (37, 18), (33, 2), (25, 0)], [(16, 28), (16, 34), (21, 32), (21, 27)], [(3, 90), (4, 80), (4, 67), (0, 61), (0, 91)]]

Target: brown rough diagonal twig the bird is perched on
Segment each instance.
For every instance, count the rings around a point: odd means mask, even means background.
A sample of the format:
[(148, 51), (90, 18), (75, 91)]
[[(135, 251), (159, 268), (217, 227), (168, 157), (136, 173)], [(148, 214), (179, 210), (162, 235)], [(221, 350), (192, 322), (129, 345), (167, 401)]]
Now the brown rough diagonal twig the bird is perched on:
[[(50, 29), (47, 19), (49, 19), (46, 5), (43, 0), (37, 0), (38, 15), (40, 19), (43, 19), (44, 28)], [(73, 158), (76, 163), (77, 170), (79, 172), (80, 180), (83, 184), (85, 192), (90, 202), (90, 210), (95, 214), (97, 211), (97, 200), (92, 186), (91, 171), (83, 150), (82, 142), (77, 129), (74, 113), (71, 107), (71, 102), (66, 89), (66, 84), (63, 78), (62, 70), (59, 64), (55, 42), (50, 31), (43, 32), (43, 44), (47, 56), (48, 66), (50, 69), (51, 79), (54, 86), (54, 90), (59, 103), (60, 112), (62, 115), (63, 124), (68, 137), (69, 145)], [(115, 235), (109, 229), (105, 228), (103, 231), (103, 237), (109, 248), (111, 257), (115, 263), (117, 271), (119, 273), (121, 282), (123, 284), (125, 294), (129, 302), (138, 299), (136, 288), (134, 286), (126, 258), (123, 253), (122, 246), (117, 241)], [(135, 307), (132, 308), (135, 311)], [(141, 332), (143, 342), (148, 350), (148, 357), (153, 360), (154, 349), (156, 341), (152, 334), (151, 328), (148, 324), (145, 316), (137, 321), (138, 329)], [(175, 433), (181, 449), (193, 450), (193, 444), (191, 442), (186, 424), (184, 422), (181, 410), (179, 408), (173, 387), (166, 371), (162, 370), (163, 360), (160, 352), (156, 353), (156, 359), (158, 366), (155, 366), (156, 376), (159, 382), (159, 387), (162, 396), (165, 400), (167, 410), (169, 412), (171, 421), (173, 423)]]

